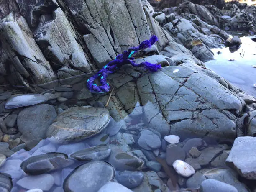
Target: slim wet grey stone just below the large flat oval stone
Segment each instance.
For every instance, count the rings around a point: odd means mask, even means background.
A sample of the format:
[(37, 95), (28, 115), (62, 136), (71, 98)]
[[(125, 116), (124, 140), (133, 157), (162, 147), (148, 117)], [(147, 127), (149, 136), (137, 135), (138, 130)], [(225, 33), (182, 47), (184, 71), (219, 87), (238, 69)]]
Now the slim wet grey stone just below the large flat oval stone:
[(99, 145), (77, 151), (70, 155), (71, 158), (79, 161), (99, 161), (110, 156), (111, 148), (106, 145)]

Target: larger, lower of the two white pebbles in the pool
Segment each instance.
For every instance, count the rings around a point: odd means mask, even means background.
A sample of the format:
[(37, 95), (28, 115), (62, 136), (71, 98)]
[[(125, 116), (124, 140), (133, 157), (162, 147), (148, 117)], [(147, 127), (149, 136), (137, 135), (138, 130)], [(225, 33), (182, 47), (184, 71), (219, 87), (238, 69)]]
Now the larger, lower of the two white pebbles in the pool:
[(173, 162), (172, 166), (175, 171), (183, 177), (190, 177), (195, 174), (195, 169), (184, 161), (176, 160)]

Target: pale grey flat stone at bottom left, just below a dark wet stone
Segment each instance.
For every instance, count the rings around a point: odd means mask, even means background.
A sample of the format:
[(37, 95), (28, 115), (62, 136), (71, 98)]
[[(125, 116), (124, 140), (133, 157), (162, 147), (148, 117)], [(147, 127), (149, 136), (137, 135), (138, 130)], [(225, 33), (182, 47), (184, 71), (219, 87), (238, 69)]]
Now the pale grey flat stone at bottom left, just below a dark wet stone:
[(54, 177), (50, 174), (41, 174), (35, 176), (23, 177), (18, 180), (17, 185), (25, 189), (39, 188), (43, 191), (49, 191), (54, 184)]

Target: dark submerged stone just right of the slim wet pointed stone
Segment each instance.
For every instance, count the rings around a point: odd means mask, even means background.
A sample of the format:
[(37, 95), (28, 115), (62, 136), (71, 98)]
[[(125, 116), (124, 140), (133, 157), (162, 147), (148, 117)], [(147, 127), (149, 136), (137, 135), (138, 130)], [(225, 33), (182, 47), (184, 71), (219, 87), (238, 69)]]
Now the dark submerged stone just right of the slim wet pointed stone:
[(144, 161), (127, 153), (112, 151), (108, 162), (119, 171), (136, 171), (144, 165)]

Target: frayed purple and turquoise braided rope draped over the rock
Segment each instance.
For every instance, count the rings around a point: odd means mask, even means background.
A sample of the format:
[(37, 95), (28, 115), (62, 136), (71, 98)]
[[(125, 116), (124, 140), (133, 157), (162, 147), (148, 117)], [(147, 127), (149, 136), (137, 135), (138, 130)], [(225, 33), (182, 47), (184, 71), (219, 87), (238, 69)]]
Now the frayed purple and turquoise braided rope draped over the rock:
[[(97, 72), (97, 74), (87, 80), (87, 88), (92, 93), (109, 92), (110, 86), (107, 83), (108, 74), (115, 72), (123, 64), (131, 64), (133, 67), (144, 67), (151, 72), (156, 72), (157, 69), (161, 69), (160, 64), (151, 64), (149, 62), (142, 62), (140, 64), (137, 64), (134, 62), (134, 58), (132, 57), (132, 55), (139, 50), (151, 47), (154, 43), (156, 43), (156, 41), (158, 41), (158, 38), (153, 35), (149, 40), (143, 41), (138, 47), (131, 47), (128, 49), (128, 51), (124, 51), (123, 54), (116, 56), (115, 60), (110, 61), (103, 67), (103, 69)], [(102, 84), (101, 86), (98, 86), (94, 83), (95, 79), (97, 78), (100, 78), (100, 83)]]

